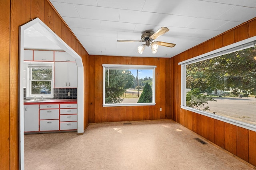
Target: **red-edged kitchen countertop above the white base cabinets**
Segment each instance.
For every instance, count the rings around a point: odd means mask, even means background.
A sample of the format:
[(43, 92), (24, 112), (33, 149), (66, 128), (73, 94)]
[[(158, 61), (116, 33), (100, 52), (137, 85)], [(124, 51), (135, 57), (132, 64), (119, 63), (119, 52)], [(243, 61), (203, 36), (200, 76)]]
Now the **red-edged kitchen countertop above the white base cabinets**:
[(53, 103), (77, 103), (77, 99), (45, 99), (45, 100), (24, 100), (24, 104), (53, 104)]

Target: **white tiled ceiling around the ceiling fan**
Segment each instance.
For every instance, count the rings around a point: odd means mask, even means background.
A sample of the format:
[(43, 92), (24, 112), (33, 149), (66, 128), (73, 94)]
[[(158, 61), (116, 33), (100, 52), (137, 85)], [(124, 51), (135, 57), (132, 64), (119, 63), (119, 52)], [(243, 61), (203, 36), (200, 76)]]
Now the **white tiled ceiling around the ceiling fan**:
[[(256, 0), (50, 1), (90, 55), (173, 57), (256, 14)], [(174, 48), (159, 47), (153, 55), (146, 47), (141, 55), (136, 50), (142, 43), (116, 42), (140, 40), (142, 32), (162, 26), (170, 31), (156, 41), (176, 43)]]

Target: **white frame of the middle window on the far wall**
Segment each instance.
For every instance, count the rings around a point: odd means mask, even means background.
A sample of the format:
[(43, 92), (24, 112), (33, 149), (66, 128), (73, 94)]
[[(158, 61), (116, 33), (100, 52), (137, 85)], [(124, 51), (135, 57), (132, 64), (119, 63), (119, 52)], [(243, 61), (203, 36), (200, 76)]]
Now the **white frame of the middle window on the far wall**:
[[(155, 106), (156, 105), (156, 66), (151, 65), (127, 65), (127, 64), (102, 64), (103, 67), (103, 107), (113, 106)], [(105, 101), (105, 86), (106, 86), (106, 68), (120, 68), (120, 69), (152, 69), (152, 103), (131, 103), (131, 104), (106, 104)]]

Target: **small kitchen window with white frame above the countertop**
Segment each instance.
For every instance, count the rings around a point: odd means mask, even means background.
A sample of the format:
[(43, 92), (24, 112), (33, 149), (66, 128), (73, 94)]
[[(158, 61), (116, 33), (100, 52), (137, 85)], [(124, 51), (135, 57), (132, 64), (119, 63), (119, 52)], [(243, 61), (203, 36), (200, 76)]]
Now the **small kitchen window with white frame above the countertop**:
[(28, 64), (27, 70), (28, 98), (35, 96), (53, 98), (53, 63)]

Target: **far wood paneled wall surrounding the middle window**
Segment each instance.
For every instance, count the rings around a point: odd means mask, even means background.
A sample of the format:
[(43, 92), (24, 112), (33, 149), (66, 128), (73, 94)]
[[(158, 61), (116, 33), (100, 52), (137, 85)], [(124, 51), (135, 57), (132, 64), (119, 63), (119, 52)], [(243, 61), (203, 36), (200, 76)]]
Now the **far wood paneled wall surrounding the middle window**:
[[(156, 106), (103, 107), (102, 64), (155, 65)], [(89, 65), (90, 123), (172, 118), (172, 115), (170, 114), (170, 59), (90, 55)], [(162, 108), (162, 111), (160, 111), (160, 107)]]

